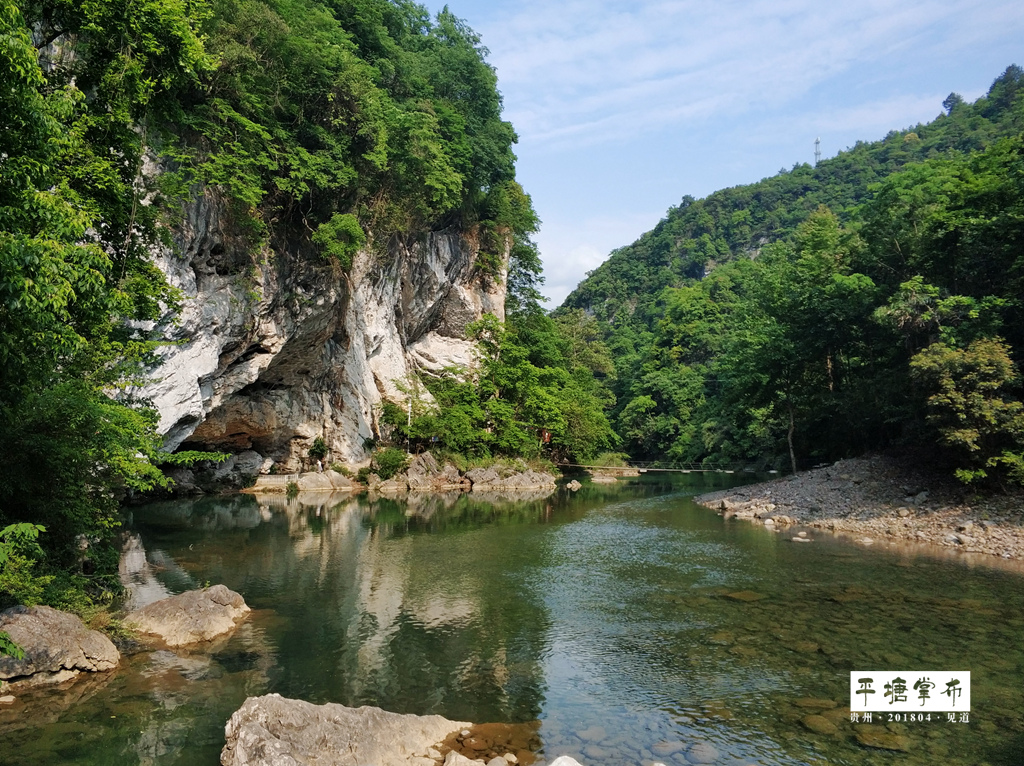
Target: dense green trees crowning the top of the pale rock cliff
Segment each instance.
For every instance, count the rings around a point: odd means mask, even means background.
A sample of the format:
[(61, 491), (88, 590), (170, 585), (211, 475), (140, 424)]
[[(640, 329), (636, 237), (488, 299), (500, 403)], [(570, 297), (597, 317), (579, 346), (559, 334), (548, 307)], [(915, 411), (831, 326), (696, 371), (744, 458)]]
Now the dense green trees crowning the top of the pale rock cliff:
[(272, 241), (305, 227), (343, 267), (367, 231), (382, 243), (453, 223), (525, 232), (495, 72), (446, 9), (431, 22), (387, 0), (210, 7), (215, 66), (177, 104), (168, 187), (218, 187), (254, 230)]

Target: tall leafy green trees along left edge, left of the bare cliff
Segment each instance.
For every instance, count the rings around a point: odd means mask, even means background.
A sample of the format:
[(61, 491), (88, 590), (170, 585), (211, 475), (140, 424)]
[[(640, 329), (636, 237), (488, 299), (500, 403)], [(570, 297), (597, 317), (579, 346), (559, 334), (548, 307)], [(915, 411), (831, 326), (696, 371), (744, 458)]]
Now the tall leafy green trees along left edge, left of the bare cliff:
[(40, 599), (81, 607), (114, 582), (118, 499), (164, 481), (155, 415), (121, 395), (175, 301), (138, 173), (206, 66), (203, 6), (25, 7), (0, 0), (0, 525), (45, 525)]

